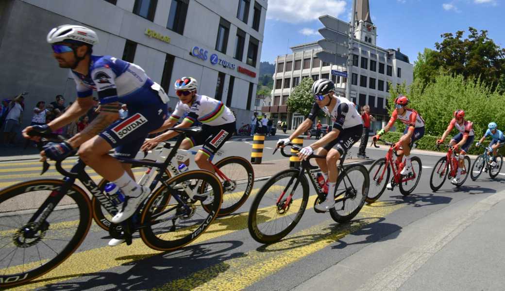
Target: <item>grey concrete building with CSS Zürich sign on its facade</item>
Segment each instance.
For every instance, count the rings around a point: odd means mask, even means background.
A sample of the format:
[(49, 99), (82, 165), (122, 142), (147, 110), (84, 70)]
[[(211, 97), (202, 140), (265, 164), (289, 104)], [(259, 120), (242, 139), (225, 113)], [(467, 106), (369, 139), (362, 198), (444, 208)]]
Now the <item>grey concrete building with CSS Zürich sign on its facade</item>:
[(0, 87), (2, 98), (24, 91), (23, 126), (39, 100), (76, 98), (69, 70), (54, 60), (46, 35), (62, 24), (96, 31), (93, 54), (141, 66), (175, 106), (173, 83), (198, 80), (200, 94), (222, 100), (248, 123), (256, 103), (267, 0), (2, 0)]

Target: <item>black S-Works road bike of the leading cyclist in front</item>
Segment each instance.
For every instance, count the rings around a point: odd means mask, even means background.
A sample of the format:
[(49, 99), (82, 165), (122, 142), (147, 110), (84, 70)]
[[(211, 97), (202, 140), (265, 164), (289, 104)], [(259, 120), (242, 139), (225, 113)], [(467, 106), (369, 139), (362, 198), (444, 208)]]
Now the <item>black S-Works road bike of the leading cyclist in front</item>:
[[(201, 129), (174, 128), (181, 135), (171, 151), (164, 147), (154, 162), (118, 158), (138, 166), (156, 168), (150, 183), (151, 195), (143, 211), (120, 224), (111, 224), (109, 234), (132, 243), (132, 234), (140, 232), (142, 241), (159, 251), (179, 249), (198, 238), (217, 217), (222, 200), (222, 184), (206, 170), (189, 170), (169, 180), (163, 175), (186, 135)], [(55, 134), (40, 134), (50, 141), (61, 142)], [(41, 148), (42, 142), (38, 143)], [(56, 162), (63, 180), (40, 179), (22, 182), (0, 191), (0, 288), (19, 285), (56, 268), (74, 253), (84, 241), (91, 226), (92, 208), (88, 194), (75, 184), (78, 180), (114, 215), (119, 206), (104, 194), (85, 171), (80, 159), (70, 171)], [(44, 161), (43, 170), (49, 164)], [(157, 187), (158, 184), (161, 184)], [(213, 196), (207, 209), (195, 195)]]

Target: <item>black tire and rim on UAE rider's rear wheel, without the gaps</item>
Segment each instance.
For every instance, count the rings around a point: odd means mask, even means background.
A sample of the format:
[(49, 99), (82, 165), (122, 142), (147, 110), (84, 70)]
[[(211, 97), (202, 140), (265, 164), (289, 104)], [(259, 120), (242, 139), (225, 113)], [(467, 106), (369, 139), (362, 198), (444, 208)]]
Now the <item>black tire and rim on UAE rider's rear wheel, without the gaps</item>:
[[(363, 174), (363, 178), (364, 178), (363, 185), (361, 186), (361, 191), (362, 191), (361, 198), (358, 201), (358, 203), (356, 204), (357, 207), (346, 215), (342, 215), (341, 213), (338, 213), (338, 211), (340, 211), (340, 210), (337, 210), (336, 207), (338, 207), (337, 205), (339, 203), (337, 203), (335, 205), (335, 207), (330, 208), (330, 216), (333, 220), (335, 220), (335, 222), (338, 222), (338, 223), (348, 222), (349, 220), (354, 218), (356, 215), (358, 215), (361, 208), (363, 208), (363, 205), (365, 205), (365, 200), (368, 195), (368, 189), (370, 187), (370, 178), (368, 176), (368, 170), (364, 165), (354, 164), (354, 165), (350, 165), (348, 167), (345, 167), (345, 169), (342, 171), (342, 173), (340, 173), (338, 176), (337, 184), (335, 185), (335, 193), (337, 193), (337, 191), (339, 191), (339, 190), (342, 191), (340, 185), (343, 182), (344, 187), (346, 189), (345, 190), (346, 195), (347, 195), (347, 185), (345, 183), (345, 178), (347, 177), (347, 179), (349, 180), (349, 178), (348, 178), (349, 173), (352, 171), (356, 171), (356, 170), (360, 171)], [(335, 193), (333, 195), (335, 195)], [(352, 200), (354, 200), (356, 198), (357, 198), (357, 196), (355, 196), (355, 198), (353, 198)], [(345, 201), (343, 201), (343, 207), (345, 207)]]

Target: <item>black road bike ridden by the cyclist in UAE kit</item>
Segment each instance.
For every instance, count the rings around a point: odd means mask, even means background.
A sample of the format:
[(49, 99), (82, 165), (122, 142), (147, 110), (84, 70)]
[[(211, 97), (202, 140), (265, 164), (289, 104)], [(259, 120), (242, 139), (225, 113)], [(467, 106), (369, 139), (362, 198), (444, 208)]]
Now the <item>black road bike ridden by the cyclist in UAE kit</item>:
[[(301, 147), (292, 143), (285, 144), (292, 150), (299, 151)], [(274, 153), (277, 149), (274, 150)], [(281, 154), (290, 157), (281, 148)], [(302, 160), (297, 168), (290, 168), (272, 176), (258, 191), (252, 202), (247, 219), (247, 227), (251, 237), (262, 244), (272, 244), (280, 241), (296, 226), (304, 214), (309, 197), (309, 182), (316, 190), (317, 196), (313, 197), (314, 205), (326, 199), (327, 193), (317, 181), (317, 173), (310, 163), (313, 158), (326, 158), (312, 154), (307, 160)], [(365, 204), (369, 180), (367, 168), (361, 164), (344, 166), (345, 154), (337, 165), (339, 176), (335, 186), (335, 206), (330, 209), (333, 220), (339, 223), (347, 222), (354, 218)], [(314, 208), (318, 213), (324, 213)]]

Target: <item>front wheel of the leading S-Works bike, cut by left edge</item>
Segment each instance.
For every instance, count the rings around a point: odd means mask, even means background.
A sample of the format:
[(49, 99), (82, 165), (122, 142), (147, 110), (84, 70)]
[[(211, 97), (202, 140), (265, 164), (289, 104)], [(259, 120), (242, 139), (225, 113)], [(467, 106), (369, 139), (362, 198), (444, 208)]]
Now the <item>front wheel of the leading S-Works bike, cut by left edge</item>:
[(91, 204), (84, 190), (73, 185), (58, 205), (44, 206), (64, 183), (35, 180), (0, 192), (0, 288), (51, 271), (84, 241), (91, 225)]

